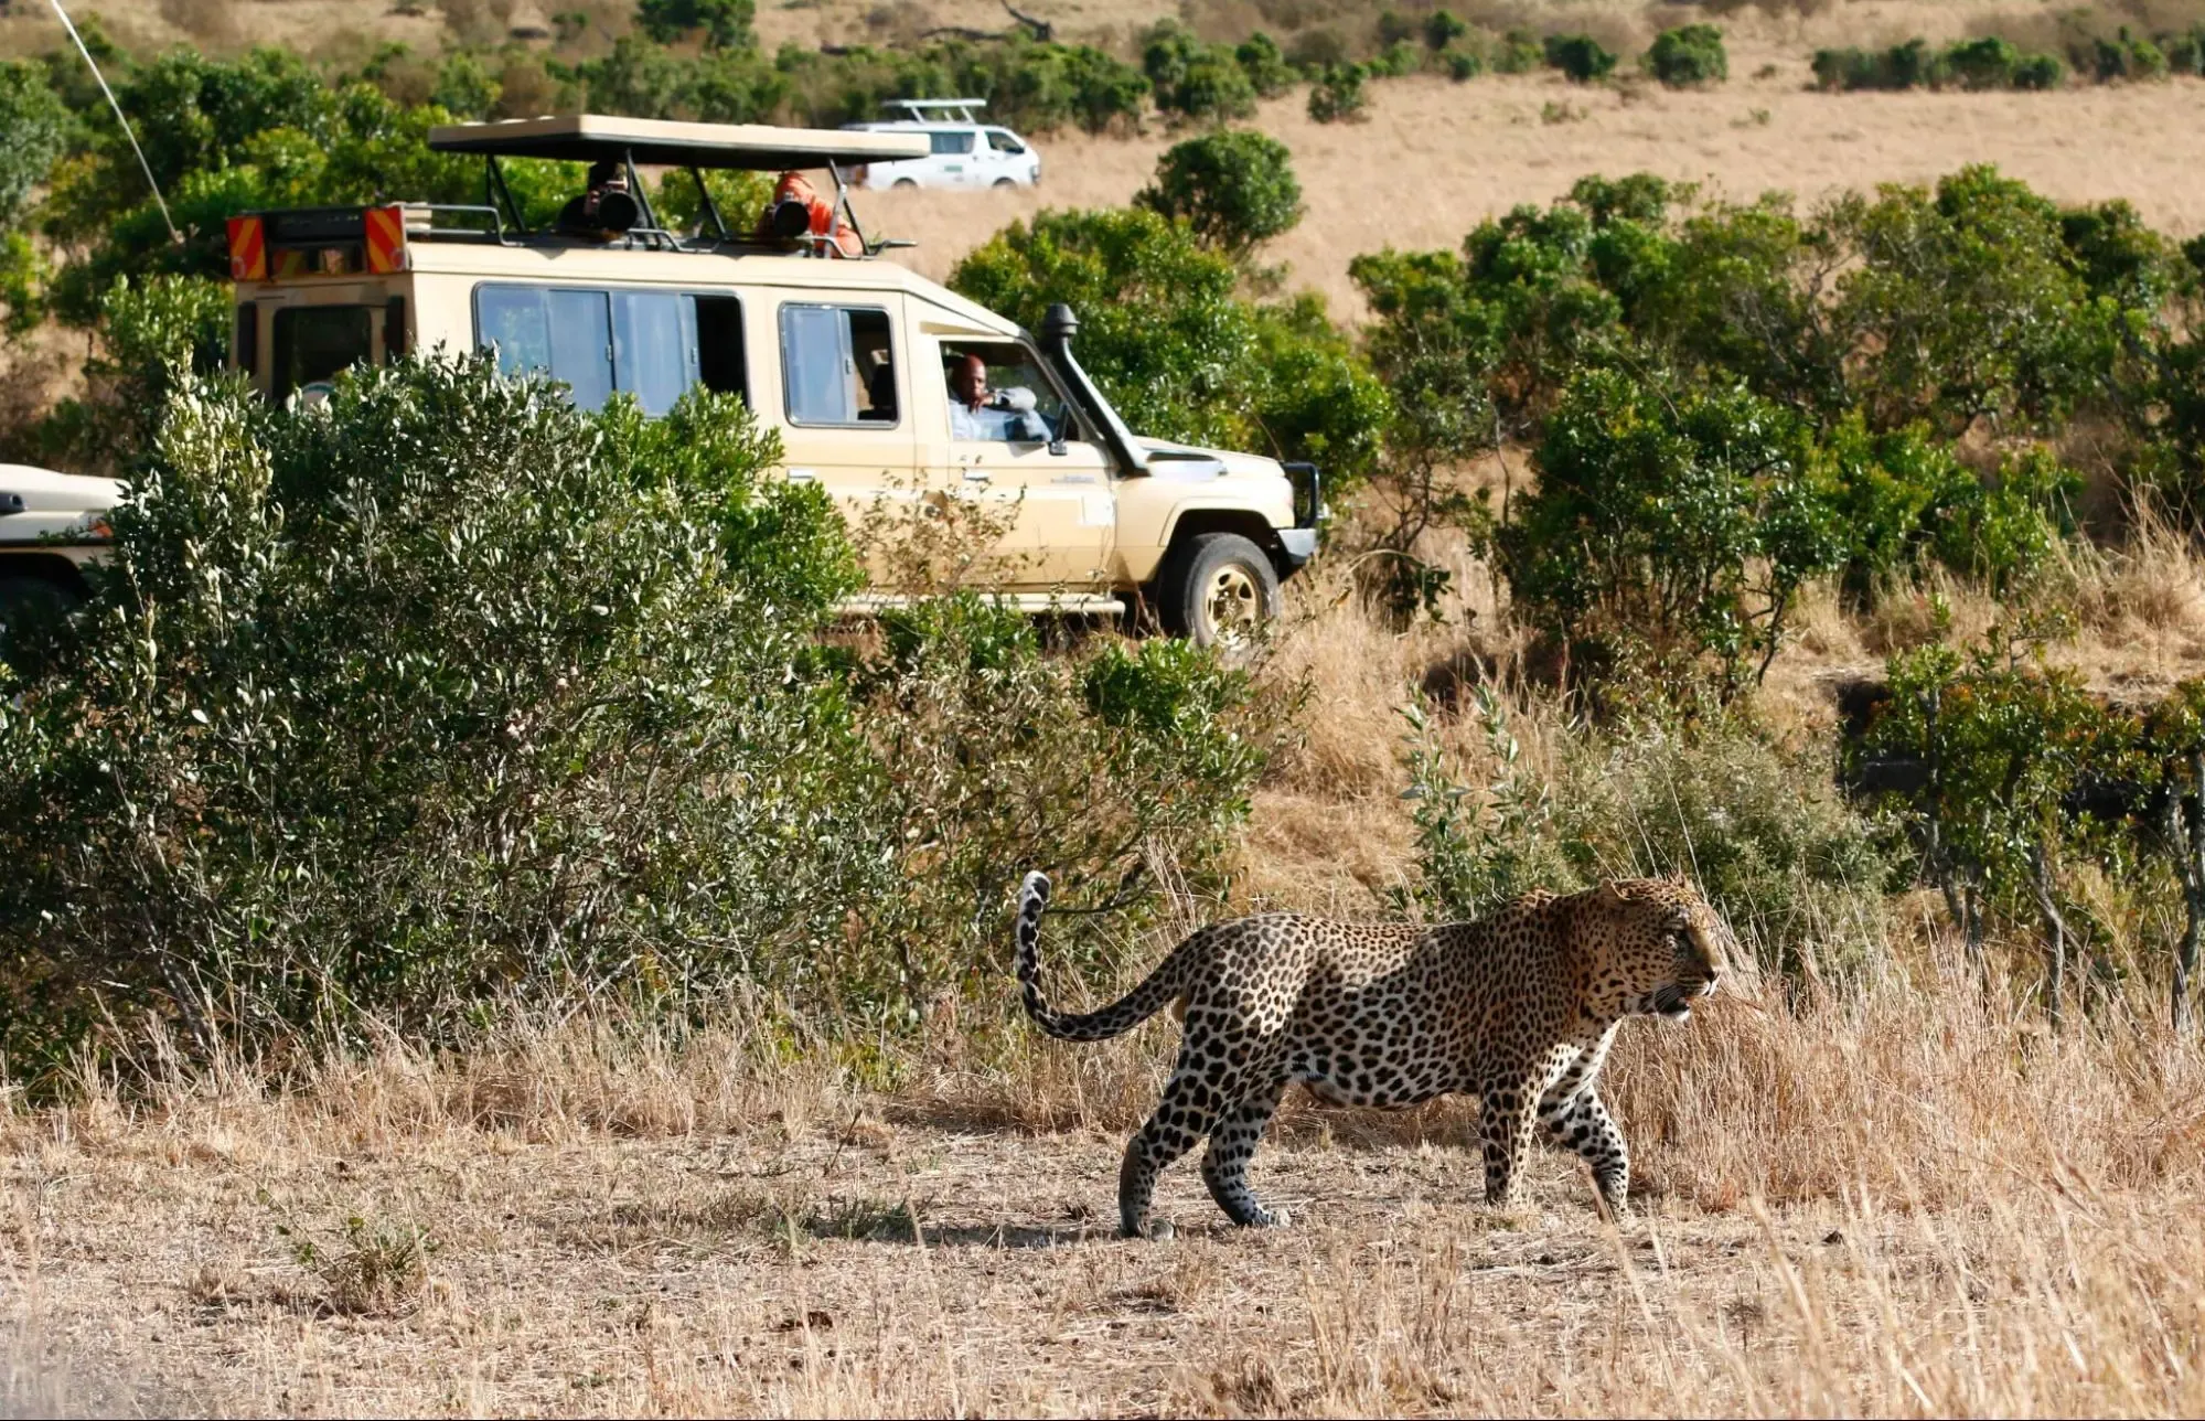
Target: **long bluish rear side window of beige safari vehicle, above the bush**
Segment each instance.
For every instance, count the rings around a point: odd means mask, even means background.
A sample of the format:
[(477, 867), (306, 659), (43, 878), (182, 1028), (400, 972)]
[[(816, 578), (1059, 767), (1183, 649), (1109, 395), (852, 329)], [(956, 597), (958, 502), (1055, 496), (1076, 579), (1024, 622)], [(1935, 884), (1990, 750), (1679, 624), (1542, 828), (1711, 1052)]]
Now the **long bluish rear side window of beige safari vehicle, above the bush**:
[(734, 296), (485, 285), (474, 338), (507, 375), (538, 371), (595, 410), (613, 391), (664, 415), (695, 384), (747, 395), (743, 307)]

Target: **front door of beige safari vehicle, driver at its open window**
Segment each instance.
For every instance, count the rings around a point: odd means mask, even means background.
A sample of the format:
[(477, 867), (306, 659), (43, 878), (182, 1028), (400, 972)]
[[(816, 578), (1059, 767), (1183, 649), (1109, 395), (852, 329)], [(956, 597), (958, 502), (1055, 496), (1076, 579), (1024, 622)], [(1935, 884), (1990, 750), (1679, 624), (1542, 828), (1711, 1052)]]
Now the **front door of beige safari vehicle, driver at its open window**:
[[(1028, 391), (1032, 413), (955, 410), (950, 380), (968, 355), (986, 364), (992, 397), (1023, 404), (1014, 391)], [(1105, 591), (1118, 523), (1109, 455), (1034, 349), (922, 327), (913, 364), (919, 457), (944, 496), (964, 499), (999, 530), (972, 580), (1010, 591)]]

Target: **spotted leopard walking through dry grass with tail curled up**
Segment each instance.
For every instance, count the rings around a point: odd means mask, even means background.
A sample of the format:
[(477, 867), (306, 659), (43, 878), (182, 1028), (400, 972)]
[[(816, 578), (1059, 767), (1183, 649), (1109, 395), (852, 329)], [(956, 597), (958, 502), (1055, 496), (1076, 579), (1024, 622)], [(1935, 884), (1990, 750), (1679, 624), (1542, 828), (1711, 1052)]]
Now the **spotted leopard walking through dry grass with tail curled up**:
[(1041, 991), (1047, 874), (1017, 909), (1025, 1015), (1063, 1041), (1125, 1035), (1164, 1006), (1177, 1064), (1118, 1169), (1118, 1231), (1169, 1238), (1151, 1218), (1158, 1176), (1204, 1136), (1202, 1183), (1233, 1225), (1288, 1225), (1248, 1183), (1257, 1143), (1292, 1086), (1323, 1105), (1402, 1110), (1475, 1094), (1486, 1203), (1517, 1203), (1544, 1132), (1592, 1172), (1596, 1209), (1629, 1218), (1632, 1158), (1601, 1099), (1601, 1066), (1627, 1017), (1691, 1017), (1735, 938), (1682, 876), (1537, 889), (1435, 927), (1259, 913), (1204, 927), (1118, 1002), (1061, 1013)]

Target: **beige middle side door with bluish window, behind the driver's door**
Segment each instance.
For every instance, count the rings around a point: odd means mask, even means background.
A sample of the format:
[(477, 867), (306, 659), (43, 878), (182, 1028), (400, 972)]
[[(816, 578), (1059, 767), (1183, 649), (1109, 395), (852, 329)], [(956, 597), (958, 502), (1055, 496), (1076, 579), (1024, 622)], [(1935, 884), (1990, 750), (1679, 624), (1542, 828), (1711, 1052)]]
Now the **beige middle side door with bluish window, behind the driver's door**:
[(908, 410), (904, 298), (785, 293), (765, 320), (781, 353), (781, 388), (759, 391), (754, 371), (752, 399), (761, 413), (778, 413), (787, 479), (827, 490), (867, 576), (875, 587), (895, 587), (906, 580), (904, 541), (931, 492)]

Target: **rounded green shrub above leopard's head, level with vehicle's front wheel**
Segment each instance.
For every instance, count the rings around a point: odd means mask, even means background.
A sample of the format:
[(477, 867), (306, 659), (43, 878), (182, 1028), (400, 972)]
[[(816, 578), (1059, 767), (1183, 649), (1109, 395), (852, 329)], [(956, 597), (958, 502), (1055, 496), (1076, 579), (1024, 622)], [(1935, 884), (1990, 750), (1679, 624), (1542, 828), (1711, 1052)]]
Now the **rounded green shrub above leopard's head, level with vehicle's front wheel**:
[(1720, 693), (1757, 682), (1799, 587), (1846, 552), (1799, 428), (1744, 391), (1588, 368), (1499, 530), (1515, 605), (1566, 647)]

